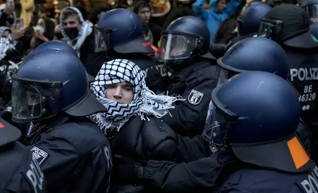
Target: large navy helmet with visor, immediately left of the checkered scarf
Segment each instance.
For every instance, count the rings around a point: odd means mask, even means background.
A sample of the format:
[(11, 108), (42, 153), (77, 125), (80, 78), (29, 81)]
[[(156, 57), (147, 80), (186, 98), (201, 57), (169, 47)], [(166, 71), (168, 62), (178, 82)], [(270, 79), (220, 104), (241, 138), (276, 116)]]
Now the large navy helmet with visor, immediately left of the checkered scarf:
[(61, 50), (44, 50), (24, 60), (12, 76), (12, 120), (30, 122), (65, 112), (88, 116), (107, 109), (88, 90), (80, 59)]

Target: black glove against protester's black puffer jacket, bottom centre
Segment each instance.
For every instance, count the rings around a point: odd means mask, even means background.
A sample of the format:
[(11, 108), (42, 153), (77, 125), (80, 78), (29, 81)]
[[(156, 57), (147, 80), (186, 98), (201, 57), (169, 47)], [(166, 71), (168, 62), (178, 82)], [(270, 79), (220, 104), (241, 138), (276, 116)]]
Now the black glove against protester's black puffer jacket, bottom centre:
[(144, 176), (145, 162), (134, 161), (116, 154), (113, 158), (112, 180), (115, 184), (135, 184)]

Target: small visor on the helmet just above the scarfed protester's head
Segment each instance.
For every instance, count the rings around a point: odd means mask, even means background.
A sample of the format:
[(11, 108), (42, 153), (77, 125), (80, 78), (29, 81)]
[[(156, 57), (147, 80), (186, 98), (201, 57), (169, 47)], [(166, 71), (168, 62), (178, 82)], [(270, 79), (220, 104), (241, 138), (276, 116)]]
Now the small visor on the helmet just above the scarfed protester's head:
[(95, 38), (95, 52), (104, 52), (109, 49), (109, 37), (112, 33), (112, 30), (107, 30), (104, 28), (98, 27), (95, 24), (94, 27), (94, 38)]

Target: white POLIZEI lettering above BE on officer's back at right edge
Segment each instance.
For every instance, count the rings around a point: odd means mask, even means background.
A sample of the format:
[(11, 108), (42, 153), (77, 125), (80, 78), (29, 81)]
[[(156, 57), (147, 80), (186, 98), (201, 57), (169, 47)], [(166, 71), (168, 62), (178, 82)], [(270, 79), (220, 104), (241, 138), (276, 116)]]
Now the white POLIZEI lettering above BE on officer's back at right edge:
[(290, 80), (294, 81), (294, 78), (298, 78), (300, 81), (305, 80), (318, 80), (318, 68), (292, 68), (289, 70), (290, 72)]

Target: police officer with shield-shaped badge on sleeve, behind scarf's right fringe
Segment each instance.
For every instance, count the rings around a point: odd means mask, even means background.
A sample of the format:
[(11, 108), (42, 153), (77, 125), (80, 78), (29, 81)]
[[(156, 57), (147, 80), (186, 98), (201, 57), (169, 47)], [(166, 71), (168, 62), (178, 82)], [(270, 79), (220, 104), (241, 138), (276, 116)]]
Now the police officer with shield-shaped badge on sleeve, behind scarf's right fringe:
[(206, 24), (193, 16), (174, 20), (161, 33), (158, 60), (173, 71), (168, 95), (186, 99), (163, 121), (184, 136), (200, 134), (204, 127), (216, 68), (216, 59), (208, 52), (209, 39)]

